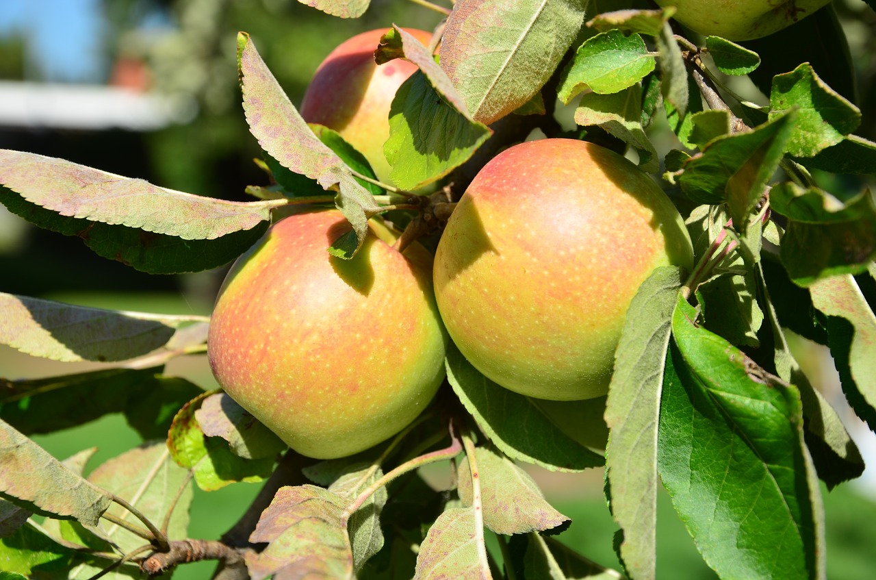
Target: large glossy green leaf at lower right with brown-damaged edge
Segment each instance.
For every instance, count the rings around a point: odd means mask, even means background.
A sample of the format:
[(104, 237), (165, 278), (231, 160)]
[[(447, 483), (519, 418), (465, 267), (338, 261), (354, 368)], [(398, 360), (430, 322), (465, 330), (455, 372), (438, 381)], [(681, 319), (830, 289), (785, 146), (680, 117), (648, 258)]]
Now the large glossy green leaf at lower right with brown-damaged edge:
[(658, 464), (675, 510), (719, 576), (823, 577), (800, 395), (696, 317), (680, 297), (663, 382)]

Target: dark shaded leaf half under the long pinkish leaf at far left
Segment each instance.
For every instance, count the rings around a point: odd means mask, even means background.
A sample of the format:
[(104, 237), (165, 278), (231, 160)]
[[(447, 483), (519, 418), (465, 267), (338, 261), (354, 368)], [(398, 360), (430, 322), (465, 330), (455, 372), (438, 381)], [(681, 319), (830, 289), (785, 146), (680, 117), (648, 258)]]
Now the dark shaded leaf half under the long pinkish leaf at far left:
[(268, 228), (268, 223), (262, 222), (251, 230), (236, 231), (212, 240), (186, 240), (123, 225), (60, 216), (4, 187), (0, 187), (0, 202), (13, 214), (40, 228), (79, 237), (102, 258), (117, 260), (152, 274), (201, 272), (227, 264), (255, 244)]

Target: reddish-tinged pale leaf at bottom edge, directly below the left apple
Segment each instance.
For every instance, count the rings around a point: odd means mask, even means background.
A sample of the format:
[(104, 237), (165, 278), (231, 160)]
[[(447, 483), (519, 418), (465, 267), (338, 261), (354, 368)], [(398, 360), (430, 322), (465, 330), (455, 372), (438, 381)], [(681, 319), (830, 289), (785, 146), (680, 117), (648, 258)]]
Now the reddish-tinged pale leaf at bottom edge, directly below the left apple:
[(246, 555), (253, 580), (272, 574), (353, 578), (353, 554), (342, 512), (343, 500), (321, 487), (281, 487), (250, 536), (254, 543), (268, 543), (260, 553)]

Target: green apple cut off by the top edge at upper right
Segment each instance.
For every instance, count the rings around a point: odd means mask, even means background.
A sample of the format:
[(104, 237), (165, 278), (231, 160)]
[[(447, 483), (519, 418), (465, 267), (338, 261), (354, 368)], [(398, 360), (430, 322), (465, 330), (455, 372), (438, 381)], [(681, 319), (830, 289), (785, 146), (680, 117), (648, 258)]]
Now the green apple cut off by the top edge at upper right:
[(675, 6), (672, 18), (694, 32), (728, 40), (751, 40), (793, 25), (830, 0), (657, 0)]

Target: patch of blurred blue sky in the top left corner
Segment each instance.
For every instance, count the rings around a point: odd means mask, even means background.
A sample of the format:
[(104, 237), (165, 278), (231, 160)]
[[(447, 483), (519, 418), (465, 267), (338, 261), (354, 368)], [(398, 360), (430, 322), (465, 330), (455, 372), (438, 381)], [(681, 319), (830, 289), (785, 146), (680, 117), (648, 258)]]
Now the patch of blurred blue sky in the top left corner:
[(101, 81), (100, 9), (100, 0), (0, 0), (0, 36), (25, 35), (41, 80)]

